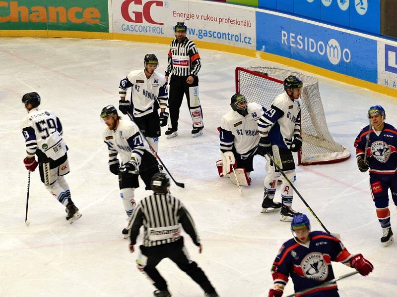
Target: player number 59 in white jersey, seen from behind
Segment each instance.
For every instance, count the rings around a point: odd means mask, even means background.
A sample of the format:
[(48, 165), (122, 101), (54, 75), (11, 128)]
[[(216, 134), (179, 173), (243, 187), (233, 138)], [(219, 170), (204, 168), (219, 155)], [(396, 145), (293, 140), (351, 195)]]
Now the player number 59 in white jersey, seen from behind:
[(64, 177), (69, 173), (69, 163), (66, 154), (68, 148), (62, 138), (62, 124), (51, 110), (38, 107), (40, 100), (36, 92), (22, 97), (28, 112), (21, 125), (27, 153), (23, 163), (30, 171), (35, 171), (39, 166), (41, 181), (51, 195), (66, 207), (66, 220), (71, 224), (81, 214), (70, 198), (69, 185)]

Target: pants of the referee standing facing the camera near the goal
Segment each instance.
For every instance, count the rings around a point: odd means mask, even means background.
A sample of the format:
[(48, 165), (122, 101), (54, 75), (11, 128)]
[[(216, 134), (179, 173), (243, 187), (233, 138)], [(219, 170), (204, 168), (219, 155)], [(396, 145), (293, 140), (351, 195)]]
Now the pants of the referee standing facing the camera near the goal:
[[(202, 127), (202, 109), (199, 100), (199, 78), (194, 77), (193, 84), (186, 83), (188, 76), (171, 75), (170, 94), (168, 107), (170, 111), (170, 122), (173, 131), (178, 131), (179, 109), (181, 108), (183, 96), (186, 95), (190, 116), (192, 117), (193, 127)], [(194, 87), (197, 87), (194, 89)], [(197, 90), (197, 94), (190, 96), (192, 90)]]

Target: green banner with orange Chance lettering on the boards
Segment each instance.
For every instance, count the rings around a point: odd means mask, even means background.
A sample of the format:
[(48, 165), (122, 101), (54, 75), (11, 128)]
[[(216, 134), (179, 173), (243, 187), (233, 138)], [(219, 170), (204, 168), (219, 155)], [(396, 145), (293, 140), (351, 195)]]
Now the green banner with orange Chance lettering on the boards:
[(0, 0), (0, 30), (109, 32), (108, 0)]

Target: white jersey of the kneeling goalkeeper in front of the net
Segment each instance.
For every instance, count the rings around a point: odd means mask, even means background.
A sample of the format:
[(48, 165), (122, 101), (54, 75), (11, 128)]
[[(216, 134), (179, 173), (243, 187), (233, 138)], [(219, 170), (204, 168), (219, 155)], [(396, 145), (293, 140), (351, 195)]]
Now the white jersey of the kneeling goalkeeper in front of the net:
[(257, 121), (265, 108), (255, 102), (248, 103), (247, 108), (246, 116), (232, 110), (222, 117), (219, 131), (221, 151), (231, 151), (234, 147), (242, 158), (256, 152), (260, 138)]

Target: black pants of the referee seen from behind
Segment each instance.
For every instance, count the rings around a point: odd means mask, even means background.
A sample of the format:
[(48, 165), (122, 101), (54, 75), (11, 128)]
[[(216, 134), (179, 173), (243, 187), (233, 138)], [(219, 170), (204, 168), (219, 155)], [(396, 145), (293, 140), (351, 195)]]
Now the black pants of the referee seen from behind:
[(154, 247), (140, 246), (140, 250), (142, 254), (147, 257), (146, 266), (143, 268), (143, 271), (153, 280), (153, 285), (157, 290), (167, 290), (167, 282), (160, 275), (156, 266), (162, 259), (170, 258), (181, 270), (185, 271), (196, 283), (198, 283), (205, 293), (211, 294), (215, 292), (214, 287), (212, 287), (201, 268), (197, 266), (195, 261), (192, 261), (189, 258), (189, 254), (183, 243), (183, 237), (171, 244)]

